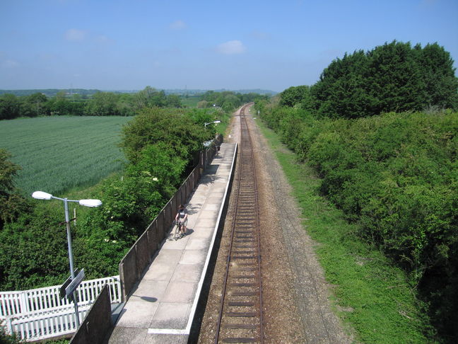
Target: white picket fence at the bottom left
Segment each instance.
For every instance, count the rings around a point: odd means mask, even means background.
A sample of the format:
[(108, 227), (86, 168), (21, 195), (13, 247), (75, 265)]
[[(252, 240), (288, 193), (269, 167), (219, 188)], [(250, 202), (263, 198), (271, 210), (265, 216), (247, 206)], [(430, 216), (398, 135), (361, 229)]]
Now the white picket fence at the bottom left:
[[(78, 312), (83, 321), (102, 287), (110, 287), (112, 304), (122, 302), (119, 275), (87, 280), (76, 289)], [(0, 323), (7, 333), (25, 340), (40, 340), (76, 331), (73, 302), (61, 299), (60, 285), (19, 292), (0, 292)]]

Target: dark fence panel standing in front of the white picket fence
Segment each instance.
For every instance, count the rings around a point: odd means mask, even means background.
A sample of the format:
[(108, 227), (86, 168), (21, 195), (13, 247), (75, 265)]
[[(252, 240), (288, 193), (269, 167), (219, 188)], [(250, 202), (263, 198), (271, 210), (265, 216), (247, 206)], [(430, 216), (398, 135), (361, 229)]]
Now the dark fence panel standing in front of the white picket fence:
[(110, 290), (105, 285), (78, 331), (70, 340), (70, 344), (97, 344), (105, 340), (112, 326)]

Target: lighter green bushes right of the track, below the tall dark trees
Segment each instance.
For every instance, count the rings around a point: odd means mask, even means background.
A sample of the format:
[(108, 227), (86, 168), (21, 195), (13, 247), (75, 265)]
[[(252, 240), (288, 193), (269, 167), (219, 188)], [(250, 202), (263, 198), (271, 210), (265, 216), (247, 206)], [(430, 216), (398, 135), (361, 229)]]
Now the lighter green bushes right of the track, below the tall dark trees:
[(264, 106), (262, 118), (317, 168), (321, 192), (360, 224), (360, 236), (409, 272), (438, 328), (444, 323), (452, 333), (458, 311), (458, 113), (317, 120), (305, 110)]

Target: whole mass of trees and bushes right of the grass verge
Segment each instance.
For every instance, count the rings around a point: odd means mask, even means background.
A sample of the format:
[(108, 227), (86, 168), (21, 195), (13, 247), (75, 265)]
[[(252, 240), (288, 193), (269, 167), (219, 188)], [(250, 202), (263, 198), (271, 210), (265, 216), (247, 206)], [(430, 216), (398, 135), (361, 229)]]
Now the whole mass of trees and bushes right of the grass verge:
[(445, 110), (458, 109), (454, 70), (437, 43), (394, 41), (256, 105), (359, 235), (409, 273), (445, 341), (458, 338), (458, 113)]

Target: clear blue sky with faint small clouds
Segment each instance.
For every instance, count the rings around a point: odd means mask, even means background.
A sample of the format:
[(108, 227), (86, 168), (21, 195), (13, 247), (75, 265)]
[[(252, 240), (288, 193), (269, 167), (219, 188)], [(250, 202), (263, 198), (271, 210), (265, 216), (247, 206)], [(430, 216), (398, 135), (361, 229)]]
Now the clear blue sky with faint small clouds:
[(458, 0), (0, 0), (0, 88), (283, 91), (392, 40), (457, 67)]

